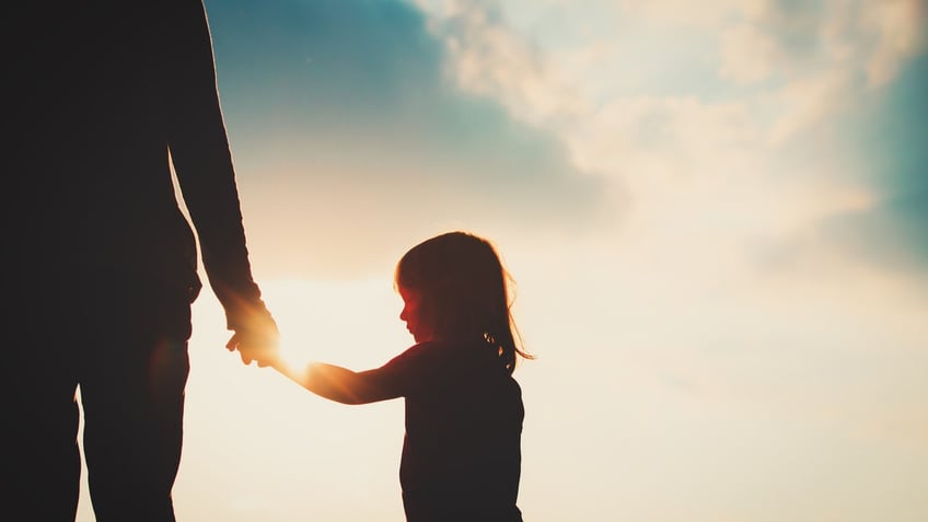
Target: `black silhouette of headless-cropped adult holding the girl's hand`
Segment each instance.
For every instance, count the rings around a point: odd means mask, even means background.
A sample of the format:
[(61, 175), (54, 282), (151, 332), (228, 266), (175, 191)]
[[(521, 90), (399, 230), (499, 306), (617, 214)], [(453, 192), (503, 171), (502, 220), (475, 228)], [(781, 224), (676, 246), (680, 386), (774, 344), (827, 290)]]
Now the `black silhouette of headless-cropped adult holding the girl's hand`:
[(278, 335), (252, 278), (205, 8), (53, 0), (8, 15), (2, 507), (74, 519), (80, 386), (96, 520), (174, 520), (198, 253), (228, 348), (250, 362)]

